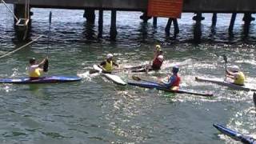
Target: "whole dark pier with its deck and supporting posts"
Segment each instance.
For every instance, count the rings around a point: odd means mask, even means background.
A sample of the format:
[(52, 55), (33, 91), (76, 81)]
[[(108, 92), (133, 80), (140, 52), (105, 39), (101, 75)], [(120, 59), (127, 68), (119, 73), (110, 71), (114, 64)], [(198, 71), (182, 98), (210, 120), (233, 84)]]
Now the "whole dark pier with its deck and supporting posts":
[[(58, 8), (58, 9), (74, 9), (85, 10), (83, 15), (87, 22), (93, 23), (95, 21), (95, 10), (98, 10), (98, 38), (102, 37), (103, 27), (103, 13), (104, 10), (111, 10), (111, 26), (110, 38), (115, 39), (118, 31), (116, 26), (116, 19), (118, 18), (117, 11), (141, 11), (143, 14), (140, 17), (143, 22), (148, 22), (151, 18), (148, 14), (150, 0), (33, 0), (29, 2), (27, 18), (30, 18), (30, 8)], [(174, 1), (174, 0), (173, 0)], [(14, 4), (14, 14), (18, 18), (23, 18), (26, 13), (26, 0), (6, 0), (6, 3)], [(166, 2), (166, 0), (159, 0), (159, 2)], [(254, 21), (251, 14), (256, 13), (255, 0), (183, 0), (182, 13), (194, 13), (195, 16), (191, 20), (195, 21), (194, 26), (194, 39), (200, 42), (201, 38), (201, 22), (204, 20), (202, 13), (212, 13), (212, 31), (218, 21), (218, 13), (230, 13), (230, 26), (228, 29), (229, 34), (233, 34), (233, 27), (236, 14), (244, 14), (243, 21), (245, 23), (245, 30), (250, 30), (250, 22)], [(138, 18), (139, 19), (139, 18)], [(17, 22), (17, 21), (15, 21)], [(169, 18), (166, 23), (166, 34), (170, 33), (170, 25), (174, 24), (174, 38), (179, 32), (177, 18)], [(30, 22), (26, 26), (26, 31), (30, 29)], [(153, 18), (154, 26), (157, 26), (157, 17)], [(28, 30), (27, 30), (28, 29)], [(17, 29), (18, 35), (21, 38), (24, 36), (24, 30)], [(23, 32), (21, 32), (23, 31)], [(21, 34), (20, 34), (21, 33)]]

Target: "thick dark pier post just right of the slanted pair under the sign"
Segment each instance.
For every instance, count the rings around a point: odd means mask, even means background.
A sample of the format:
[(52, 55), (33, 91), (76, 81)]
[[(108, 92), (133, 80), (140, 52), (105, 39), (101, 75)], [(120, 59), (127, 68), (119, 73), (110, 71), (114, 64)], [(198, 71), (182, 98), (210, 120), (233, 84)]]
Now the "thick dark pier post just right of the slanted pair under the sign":
[(196, 16), (193, 17), (193, 20), (196, 22), (194, 26), (194, 42), (201, 42), (202, 30), (201, 30), (201, 21), (205, 18), (202, 17), (202, 13), (196, 13)]

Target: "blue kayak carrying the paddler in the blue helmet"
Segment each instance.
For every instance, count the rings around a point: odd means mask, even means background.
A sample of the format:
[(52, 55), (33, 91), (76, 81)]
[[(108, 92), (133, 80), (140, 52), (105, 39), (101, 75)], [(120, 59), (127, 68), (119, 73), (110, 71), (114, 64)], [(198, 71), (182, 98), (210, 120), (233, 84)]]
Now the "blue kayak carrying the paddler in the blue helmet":
[(160, 83), (157, 82), (148, 82), (145, 80), (140, 80), (140, 81), (128, 81), (129, 85), (132, 86), (139, 86), (139, 87), (145, 87), (145, 88), (150, 88), (150, 89), (158, 89), (158, 90), (164, 90), (164, 91), (168, 91), (171, 93), (181, 93), (181, 94), (195, 94), (195, 95), (201, 95), (201, 96), (206, 96), (206, 97), (211, 97), (214, 94), (208, 93), (208, 92), (197, 92), (194, 90), (185, 90), (185, 89), (178, 89), (178, 90), (170, 90), (168, 88), (166, 88), (165, 85), (162, 85)]

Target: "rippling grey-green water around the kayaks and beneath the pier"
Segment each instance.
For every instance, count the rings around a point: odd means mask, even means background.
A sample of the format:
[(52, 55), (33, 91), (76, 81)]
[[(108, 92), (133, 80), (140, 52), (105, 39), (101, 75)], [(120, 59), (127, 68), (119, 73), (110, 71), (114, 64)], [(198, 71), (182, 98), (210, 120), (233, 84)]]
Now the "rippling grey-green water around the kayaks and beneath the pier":
[[(50, 9), (33, 9), (31, 39), (48, 30)], [(98, 25), (86, 24), (82, 10), (51, 10), (50, 71), (47, 75), (83, 76), (82, 82), (42, 85), (1, 85), (1, 143), (232, 143), (212, 126), (221, 123), (243, 134), (256, 134), (251, 92), (230, 90), (210, 83), (194, 82), (195, 76), (224, 78), (222, 54), (228, 64), (242, 67), (247, 82), (255, 82), (255, 22), (248, 36), (242, 32), (238, 14), (234, 38), (227, 34), (230, 14), (219, 14), (215, 34), (210, 32), (211, 14), (204, 14), (202, 43), (194, 45), (193, 14), (182, 14), (177, 40), (164, 33), (166, 18), (158, 27), (143, 25), (141, 13), (118, 12), (118, 38), (110, 42), (110, 12), (104, 13), (103, 38)], [(0, 6), (0, 54), (24, 43), (14, 38), (13, 19)], [(169, 94), (134, 86), (117, 86), (100, 76), (86, 73), (95, 63), (113, 53), (121, 66), (144, 64), (152, 58), (155, 44), (161, 44), (165, 69), (142, 78), (164, 78), (170, 66), (181, 67), (182, 86), (208, 90), (214, 98), (190, 94)], [(0, 59), (2, 78), (26, 76), (31, 57), (46, 57), (47, 38)], [(132, 74), (118, 74), (127, 80)], [(255, 136), (255, 135), (254, 135)]]

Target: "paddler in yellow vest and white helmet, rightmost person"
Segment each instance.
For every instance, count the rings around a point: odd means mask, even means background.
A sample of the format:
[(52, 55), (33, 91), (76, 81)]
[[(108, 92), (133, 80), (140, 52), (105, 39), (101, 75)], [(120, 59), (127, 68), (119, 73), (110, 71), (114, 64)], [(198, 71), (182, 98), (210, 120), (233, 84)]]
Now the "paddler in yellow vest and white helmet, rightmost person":
[(234, 84), (244, 86), (245, 84), (245, 74), (239, 69), (238, 66), (232, 66), (229, 70), (226, 70), (226, 76), (234, 80)]

